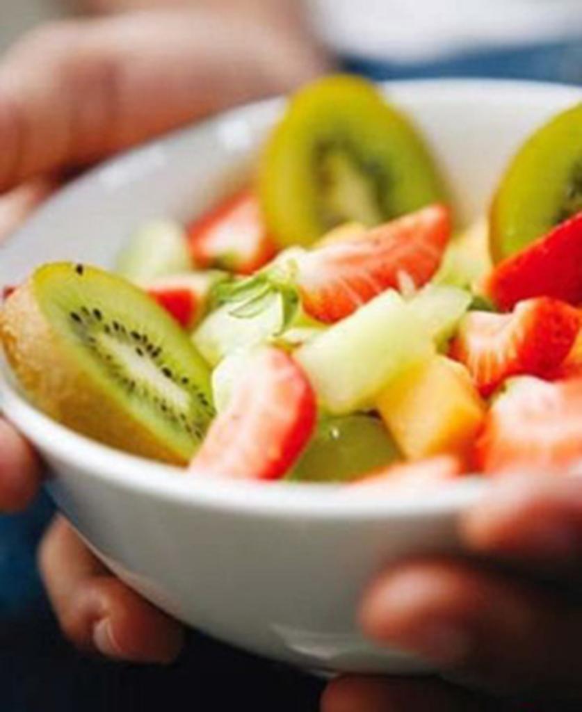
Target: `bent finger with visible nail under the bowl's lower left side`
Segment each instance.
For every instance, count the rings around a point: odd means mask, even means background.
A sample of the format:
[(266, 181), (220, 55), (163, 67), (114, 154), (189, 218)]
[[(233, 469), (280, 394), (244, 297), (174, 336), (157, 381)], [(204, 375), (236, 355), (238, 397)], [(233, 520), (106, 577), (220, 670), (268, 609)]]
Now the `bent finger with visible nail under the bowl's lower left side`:
[(48, 530), (39, 562), (61, 628), (80, 649), (134, 662), (175, 660), (180, 625), (113, 577), (63, 518)]

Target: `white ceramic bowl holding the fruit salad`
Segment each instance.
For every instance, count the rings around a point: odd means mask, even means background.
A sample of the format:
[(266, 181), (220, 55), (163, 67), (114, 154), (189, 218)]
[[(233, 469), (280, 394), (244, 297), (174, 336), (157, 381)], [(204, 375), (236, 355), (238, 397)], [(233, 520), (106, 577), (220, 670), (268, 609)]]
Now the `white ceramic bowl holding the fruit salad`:
[[(387, 85), (445, 170), (465, 220), (481, 214), (507, 159), (540, 122), (579, 101), (557, 85), (430, 81)], [(0, 249), (0, 284), (46, 261), (108, 266), (128, 234), (187, 219), (249, 165), (281, 110), (254, 105), (179, 132), (63, 190)], [(1, 406), (41, 451), (48, 488), (125, 582), (218, 639), (335, 671), (410, 671), (420, 661), (360, 636), (358, 600), (395, 557), (452, 550), (468, 479), (415, 499), (355, 499), (335, 487), (205, 483), (95, 444), (36, 412), (2, 370)]]

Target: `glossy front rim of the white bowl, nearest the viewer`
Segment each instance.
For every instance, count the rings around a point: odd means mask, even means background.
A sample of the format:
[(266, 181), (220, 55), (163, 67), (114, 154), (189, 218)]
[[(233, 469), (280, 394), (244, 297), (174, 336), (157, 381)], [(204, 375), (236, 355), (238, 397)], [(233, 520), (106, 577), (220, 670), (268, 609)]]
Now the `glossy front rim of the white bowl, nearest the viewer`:
[[(4, 415), (29, 441), (58, 464), (74, 468), (81, 476), (104, 481), (109, 486), (135, 491), (152, 498), (200, 506), (214, 511), (237, 511), (251, 517), (305, 516), (320, 519), (400, 518), (450, 515), (472, 505), (482, 496), (482, 476), (466, 476), (441, 483), (430, 496), (395, 493), (381, 498), (378, 491), (356, 491), (342, 484), (311, 484), (289, 481), (194, 481), (184, 468), (134, 456), (100, 444), (59, 424), (30, 404), (0, 366), (0, 403)], [(58, 469), (58, 464), (56, 469)], [(58, 479), (58, 474), (57, 474)], [(46, 480), (49, 487), (51, 476)]]

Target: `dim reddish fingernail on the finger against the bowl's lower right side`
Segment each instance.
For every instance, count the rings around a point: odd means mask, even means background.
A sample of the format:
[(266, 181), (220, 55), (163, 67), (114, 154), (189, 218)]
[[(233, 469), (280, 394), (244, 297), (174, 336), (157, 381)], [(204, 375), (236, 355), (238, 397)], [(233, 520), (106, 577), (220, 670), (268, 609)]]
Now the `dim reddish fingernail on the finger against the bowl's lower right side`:
[(422, 627), (399, 631), (391, 642), (406, 651), (440, 666), (461, 663), (472, 649), (472, 639), (452, 622), (430, 622)]

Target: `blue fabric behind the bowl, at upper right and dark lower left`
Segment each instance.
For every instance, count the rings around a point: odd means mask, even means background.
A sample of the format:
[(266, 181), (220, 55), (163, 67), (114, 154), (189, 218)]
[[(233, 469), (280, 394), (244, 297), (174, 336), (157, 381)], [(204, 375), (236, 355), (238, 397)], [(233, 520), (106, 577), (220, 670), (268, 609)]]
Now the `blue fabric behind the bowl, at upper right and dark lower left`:
[[(582, 42), (473, 53), (397, 65), (346, 58), (345, 68), (375, 79), (487, 76), (579, 82)], [(34, 565), (51, 516), (41, 497), (26, 515), (0, 517), (0, 709), (2, 712), (172, 712), (196, 708), (309, 712), (321, 686), (282, 666), (191, 634), (170, 669), (107, 664), (76, 654), (63, 641)]]

